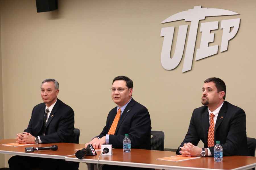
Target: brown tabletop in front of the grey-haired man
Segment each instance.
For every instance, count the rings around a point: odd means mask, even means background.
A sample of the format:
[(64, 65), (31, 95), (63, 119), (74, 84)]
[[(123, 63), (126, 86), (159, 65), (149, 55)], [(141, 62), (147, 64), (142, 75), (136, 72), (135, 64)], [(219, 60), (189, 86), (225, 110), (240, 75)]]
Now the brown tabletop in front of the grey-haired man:
[[(0, 154), (32, 156), (40, 158), (65, 159), (66, 156), (74, 155), (77, 151), (74, 149), (84, 148), (84, 144), (75, 143), (49, 143), (49, 144), (35, 144), (25, 146), (4, 146), (3, 144), (16, 143), (16, 139), (1, 139)], [(25, 152), (27, 147), (49, 147), (57, 145), (57, 150), (36, 150), (34, 152)]]

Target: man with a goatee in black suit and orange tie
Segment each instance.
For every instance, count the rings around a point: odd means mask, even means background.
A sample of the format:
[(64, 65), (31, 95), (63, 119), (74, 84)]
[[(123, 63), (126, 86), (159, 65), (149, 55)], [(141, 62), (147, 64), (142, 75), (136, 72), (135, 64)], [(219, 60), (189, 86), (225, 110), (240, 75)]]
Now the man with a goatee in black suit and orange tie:
[[(227, 101), (226, 85), (220, 78), (205, 80), (202, 94), (202, 104), (195, 109), (189, 124), (189, 129), (176, 154), (182, 156), (212, 156), (214, 146), (210, 145), (210, 114), (214, 114), (214, 141), (220, 141), (223, 156), (250, 156), (246, 139), (245, 112)], [(204, 148), (199, 148), (199, 141)]]

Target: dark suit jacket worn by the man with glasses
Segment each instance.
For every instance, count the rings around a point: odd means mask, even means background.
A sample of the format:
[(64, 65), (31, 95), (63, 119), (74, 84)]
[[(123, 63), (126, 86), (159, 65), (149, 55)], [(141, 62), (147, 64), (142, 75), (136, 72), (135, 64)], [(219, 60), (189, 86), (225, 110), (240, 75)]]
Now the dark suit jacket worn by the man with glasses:
[[(106, 126), (98, 136), (99, 138), (108, 134), (116, 113), (117, 107), (109, 112)], [(109, 136), (109, 144), (111, 144), (113, 148), (123, 148), (125, 133), (129, 134), (131, 148), (150, 149), (150, 115), (146, 107), (133, 100), (133, 98), (123, 111), (118, 121), (115, 134)]]

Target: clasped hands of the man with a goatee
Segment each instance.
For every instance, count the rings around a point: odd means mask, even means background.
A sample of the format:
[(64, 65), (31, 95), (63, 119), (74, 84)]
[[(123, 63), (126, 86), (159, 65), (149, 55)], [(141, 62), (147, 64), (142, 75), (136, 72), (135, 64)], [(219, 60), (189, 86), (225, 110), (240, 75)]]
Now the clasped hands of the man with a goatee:
[(199, 148), (198, 146), (193, 145), (192, 143), (184, 143), (184, 145), (180, 148), (179, 151), (181, 153), (181, 156), (201, 156), (200, 153), (202, 151), (202, 148)]

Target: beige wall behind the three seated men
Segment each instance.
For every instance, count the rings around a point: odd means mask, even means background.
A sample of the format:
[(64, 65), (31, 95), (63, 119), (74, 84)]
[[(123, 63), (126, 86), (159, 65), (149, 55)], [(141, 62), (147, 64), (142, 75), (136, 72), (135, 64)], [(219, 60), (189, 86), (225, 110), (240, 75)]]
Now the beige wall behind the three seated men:
[[(40, 83), (55, 78), (59, 99), (75, 111), (80, 143), (98, 135), (115, 107), (111, 83), (126, 75), (134, 82), (133, 98), (148, 108), (152, 130), (165, 133), (165, 148), (177, 148), (189, 126), (193, 109), (201, 106), (206, 78), (222, 78), (226, 101), (245, 110), (247, 136), (255, 135), (255, 5), (254, 0), (58, 0), (59, 9), (36, 12), (35, 1), (1, 0), (0, 132), (15, 138), (26, 129), (32, 108), (42, 102)], [(242, 3), (242, 4), (241, 4)], [(202, 22), (241, 18), (228, 50), (195, 61), (182, 73), (184, 61), (171, 71), (161, 65), (161, 28), (189, 24), (184, 20), (160, 24), (177, 12), (201, 5), (239, 13), (208, 17)], [(189, 29), (189, 28), (188, 28)], [(222, 31), (214, 31), (220, 44)], [(177, 34), (177, 31), (176, 33)], [(200, 46), (200, 32), (195, 49)], [(174, 41), (175, 43), (176, 41)], [(184, 53), (185, 54), (185, 53)], [(0, 67), (1, 68), (1, 67)], [(8, 167), (9, 155), (5, 155)]]

